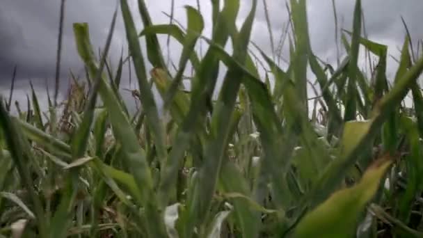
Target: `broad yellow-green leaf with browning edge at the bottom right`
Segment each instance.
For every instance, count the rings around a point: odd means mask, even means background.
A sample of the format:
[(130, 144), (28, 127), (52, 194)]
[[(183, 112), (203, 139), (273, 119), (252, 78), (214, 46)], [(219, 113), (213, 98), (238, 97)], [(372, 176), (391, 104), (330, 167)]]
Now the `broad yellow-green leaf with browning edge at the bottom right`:
[(382, 157), (370, 166), (358, 184), (333, 193), (298, 223), (294, 237), (353, 237), (358, 217), (376, 193), (392, 160)]

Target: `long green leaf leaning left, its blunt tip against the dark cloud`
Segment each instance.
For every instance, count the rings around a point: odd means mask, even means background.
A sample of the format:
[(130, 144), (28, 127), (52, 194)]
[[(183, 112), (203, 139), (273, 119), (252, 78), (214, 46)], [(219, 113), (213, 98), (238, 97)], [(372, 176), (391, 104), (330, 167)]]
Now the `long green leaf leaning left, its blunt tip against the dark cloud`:
[[(123, 11), (126, 14), (129, 9), (125, 3), (122, 4), (122, 8), (124, 8)], [(97, 63), (94, 61), (93, 48), (90, 45), (88, 25), (74, 24), (74, 35), (77, 42), (79, 56), (81, 56), (82, 60), (88, 67), (90, 75), (94, 76), (97, 73), (98, 68)], [(150, 90), (150, 88), (148, 88), (148, 90)], [(143, 205), (145, 205), (145, 212), (147, 216), (150, 216), (148, 219), (150, 225), (147, 225), (150, 236), (154, 237), (155, 235), (163, 234), (164, 225), (161, 225), (163, 223), (160, 221), (160, 216), (157, 212), (157, 205), (155, 204), (156, 199), (154, 198), (155, 196), (153, 193), (152, 174), (147, 164), (145, 152), (138, 144), (138, 138), (134, 133), (126, 114), (123, 112), (118, 99), (115, 97), (113, 89), (109, 84), (107, 84), (104, 77), (102, 77), (99, 84), (99, 94), (102, 97), (104, 105), (109, 110), (109, 118), (111, 120), (113, 133), (115, 134), (116, 139), (121, 142), (122, 154), (124, 155), (125, 163), (131, 171), (131, 174), (134, 175), (136, 184), (141, 191), (140, 196), (142, 198)]]

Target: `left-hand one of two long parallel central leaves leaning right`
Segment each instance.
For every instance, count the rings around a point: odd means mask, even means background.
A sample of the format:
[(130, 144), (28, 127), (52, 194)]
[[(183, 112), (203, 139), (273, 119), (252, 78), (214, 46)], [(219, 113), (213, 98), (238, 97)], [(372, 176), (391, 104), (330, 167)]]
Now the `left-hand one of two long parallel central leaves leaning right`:
[[(219, 15), (218, 31), (213, 33), (213, 40), (217, 45), (225, 45), (229, 37), (228, 25), (234, 24), (238, 10), (238, 0), (225, 1), (225, 6)], [(184, 152), (189, 147), (192, 138), (194, 138), (193, 134), (195, 134), (196, 129), (199, 125), (202, 125), (200, 122), (204, 121), (203, 117), (207, 113), (205, 105), (207, 106), (207, 102), (210, 100), (218, 76), (218, 59), (214, 54), (212, 47), (209, 47), (195, 74), (195, 81), (191, 82), (191, 98), (195, 98), (195, 100), (191, 100), (189, 111), (184, 122), (178, 128), (169, 159), (163, 168), (163, 174), (167, 174), (167, 178), (161, 182), (161, 188), (159, 189), (159, 198), (163, 205), (168, 203), (168, 193), (170, 192), (168, 188), (175, 181), (177, 168), (184, 157)], [(186, 230), (192, 232), (192, 228), (186, 228)]]

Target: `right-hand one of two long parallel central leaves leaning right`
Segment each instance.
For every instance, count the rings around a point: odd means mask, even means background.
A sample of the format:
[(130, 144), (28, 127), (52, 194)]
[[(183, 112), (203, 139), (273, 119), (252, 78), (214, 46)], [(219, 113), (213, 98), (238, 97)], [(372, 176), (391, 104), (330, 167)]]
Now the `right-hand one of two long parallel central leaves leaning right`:
[[(237, 38), (234, 39), (233, 58), (241, 63), (246, 62), (247, 47), (250, 41), (250, 32), (253, 26), (257, 1), (253, 1), (253, 6), (241, 27)], [(234, 33), (233, 33), (234, 34)], [(205, 160), (199, 172), (199, 203), (194, 204), (194, 217), (198, 218), (198, 223), (205, 221), (212, 196), (216, 188), (218, 174), (220, 173), (223, 161), (223, 150), (228, 144), (230, 136), (230, 121), (234, 115), (234, 106), (237, 100), (237, 93), (241, 86), (243, 72), (239, 68), (228, 66), (228, 73), (225, 75), (223, 86), (216, 102), (212, 114), (209, 141), (206, 143)]]

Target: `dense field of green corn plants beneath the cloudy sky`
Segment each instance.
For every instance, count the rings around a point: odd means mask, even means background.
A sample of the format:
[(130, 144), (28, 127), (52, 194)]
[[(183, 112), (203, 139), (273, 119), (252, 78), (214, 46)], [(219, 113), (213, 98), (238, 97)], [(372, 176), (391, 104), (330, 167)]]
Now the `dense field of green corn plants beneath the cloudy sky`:
[[(423, 237), (423, 57), (408, 31), (388, 79), (360, 0), (336, 66), (313, 53), (306, 1), (290, 0), (287, 67), (250, 40), (257, 0), (240, 27), (243, 1), (212, 0), (211, 38), (195, 6), (185, 25), (154, 24), (138, 0), (138, 32), (118, 2), (99, 55), (73, 24), (86, 77), (65, 101), (47, 92), (42, 111), (33, 88), (26, 109), (1, 95), (0, 237)], [(111, 70), (119, 10), (130, 53)], [(159, 35), (182, 46), (174, 69)], [(136, 113), (120, 94), (129, 64)]]

